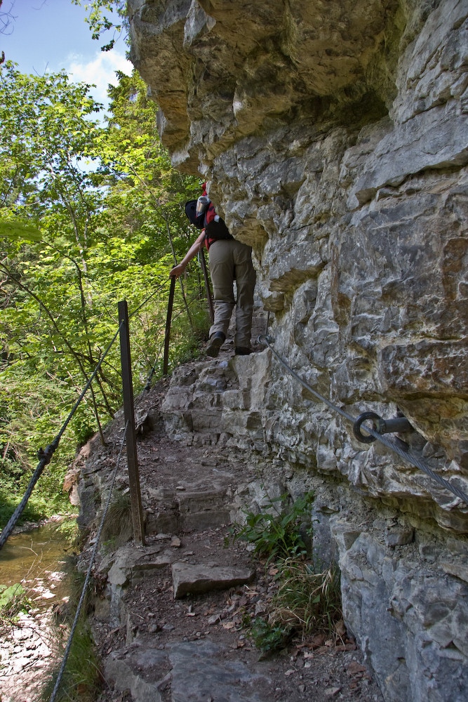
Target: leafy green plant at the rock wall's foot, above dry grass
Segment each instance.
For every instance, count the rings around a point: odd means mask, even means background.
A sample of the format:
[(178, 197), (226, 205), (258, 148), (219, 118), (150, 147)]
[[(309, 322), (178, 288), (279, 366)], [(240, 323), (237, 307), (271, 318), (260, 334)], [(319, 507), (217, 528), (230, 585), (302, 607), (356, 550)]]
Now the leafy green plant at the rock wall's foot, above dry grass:
[[(299, 556), (307, 553), (305, 537), (312, 536), (311, 508), (314, 493), (307, 492), (288, 506), (287, 496), (269, 500), (264, 512), (244, 510), (246, 521), (233, 529), (234, 539), (253, 543), (254, 553), (272, 560)], [(277, 507), (280, 505), (280, 508)]]

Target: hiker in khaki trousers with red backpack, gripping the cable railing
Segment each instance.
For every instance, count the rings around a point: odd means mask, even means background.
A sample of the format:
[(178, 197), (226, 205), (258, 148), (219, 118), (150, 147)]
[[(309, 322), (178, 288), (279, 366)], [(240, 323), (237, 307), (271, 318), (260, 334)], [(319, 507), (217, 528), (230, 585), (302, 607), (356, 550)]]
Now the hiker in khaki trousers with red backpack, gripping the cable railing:
[[(210, 327), (210, 338), (206, 346), (206, 355), (218, 356), (220, 347), (225, 342), (227, 328), (232, 310), (236, 307), (236, 334), (234, 352), (245, 356), (252, 352), (250, 335), (252, 329), (253, 290), (255, 288), (255, 270), (252, 265), (252, 249), (241, 241), (236, 241), (225, 225), (224, 220), (216, 214), (213, 204), (206, 194), (198, 200), (191, 200), (185, 206), (187, 217), (201, 229), (189, 251), (169, 275), (180, 277), (187, 264), (195, 258), (203, 246), (208, 249), (213, 296), (215, 298), (215, 320)], [(234, 300), (234, 280), (237, 285), (237, 303)]]

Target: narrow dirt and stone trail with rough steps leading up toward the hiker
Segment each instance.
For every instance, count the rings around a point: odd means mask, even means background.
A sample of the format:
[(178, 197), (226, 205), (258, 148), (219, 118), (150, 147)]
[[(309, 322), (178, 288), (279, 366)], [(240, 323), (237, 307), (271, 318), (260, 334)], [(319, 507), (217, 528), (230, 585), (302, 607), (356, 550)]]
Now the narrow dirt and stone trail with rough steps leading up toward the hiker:
[[(218, 359), (184, 372), (206, 371), (215, 386), (231, 355), (227, 345)], [(246, 624), (267, 611), (276, 569), (229, 534), (262, 475), (243, 451), (169, 437), (161, 414), (167, 391), (160, 381), (138, 403), (146, 544), (117, 543), (95, 573), (93, 631), (107, 685), (100, 702), (382, 701), (345, 628), (329, 640), (297, 637), (272, 656), (255, 648)], [(122, 422), (116, 418), (114, 437)], [(94, 449), (85, 481), (117, 450)], [(121, 471), (117, 486), (125, 484)]]

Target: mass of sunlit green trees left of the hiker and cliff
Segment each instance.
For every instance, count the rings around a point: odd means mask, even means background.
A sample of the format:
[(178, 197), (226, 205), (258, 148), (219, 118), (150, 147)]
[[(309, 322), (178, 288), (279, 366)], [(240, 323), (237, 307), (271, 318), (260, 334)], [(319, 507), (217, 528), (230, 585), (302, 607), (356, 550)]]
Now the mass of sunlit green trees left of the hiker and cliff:
[[(97, 2), (94, 10), (114, 5)], [(168, 272), (194, 238), (183, 205), (199, 179), (171, 167), (138, 74), (119, 74), (109, 88), (106, 126), (88, 89), (64, 72), (27, 76), (11, 62), (0, 66), (1, 521), (114, 338), (118, 300), (128, 300), (132, 314), (135, 392), (152, 366), (161, 375)], [(196, 355), (206, 334), (203, 296), (197, 275), (178, 286), (171, 369)], [(119, 406), (117, 338), (34, 489), (29, 515), (65, 508), (67, 463)]]

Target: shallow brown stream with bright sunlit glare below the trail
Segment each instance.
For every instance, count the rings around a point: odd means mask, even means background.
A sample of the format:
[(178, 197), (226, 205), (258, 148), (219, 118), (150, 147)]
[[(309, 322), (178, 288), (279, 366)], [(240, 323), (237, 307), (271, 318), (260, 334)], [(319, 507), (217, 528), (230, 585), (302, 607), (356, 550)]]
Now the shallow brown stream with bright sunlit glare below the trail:
[(67, 599), (67, 537), (48, 522), (8, 538), (0, 551), (0, 585), (21, 583), (29, 611), (1, 630), (1, 702), (37, 702), (57, 650), (53, 607)]

